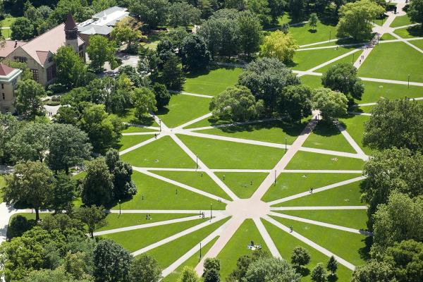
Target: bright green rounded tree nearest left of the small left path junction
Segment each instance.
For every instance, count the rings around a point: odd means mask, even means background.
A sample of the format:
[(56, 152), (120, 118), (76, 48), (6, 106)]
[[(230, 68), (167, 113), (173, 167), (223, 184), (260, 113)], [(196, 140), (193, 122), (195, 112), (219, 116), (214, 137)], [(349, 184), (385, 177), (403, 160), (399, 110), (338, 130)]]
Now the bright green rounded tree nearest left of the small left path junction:
[(80, 121), (94, 149), (104, 152), (121, 138), (122, 121), (114, 114), (107, 114), (104, 105), (92, 105), (84, 109)]

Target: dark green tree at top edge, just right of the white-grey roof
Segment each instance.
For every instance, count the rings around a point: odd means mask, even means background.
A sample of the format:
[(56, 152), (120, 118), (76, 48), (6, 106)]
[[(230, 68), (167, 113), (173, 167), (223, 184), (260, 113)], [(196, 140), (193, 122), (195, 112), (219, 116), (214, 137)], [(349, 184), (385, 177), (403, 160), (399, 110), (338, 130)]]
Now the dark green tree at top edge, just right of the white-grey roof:
[(137, 15), (146, 28), (154, 29), (166, 23), (170, 5), (168, 0), (135, 0), (131, 2), (129, 10)]

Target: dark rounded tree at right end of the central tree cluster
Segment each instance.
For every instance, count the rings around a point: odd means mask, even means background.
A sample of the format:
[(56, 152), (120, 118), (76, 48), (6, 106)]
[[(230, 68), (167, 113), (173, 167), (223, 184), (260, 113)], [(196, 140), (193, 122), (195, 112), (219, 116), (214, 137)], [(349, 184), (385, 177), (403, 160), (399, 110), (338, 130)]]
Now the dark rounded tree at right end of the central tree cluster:
[(278, 98), (278, 112), (283, 118), (301, 121), (312, 114), (312, 90), (307, 85), (289, 85)]

